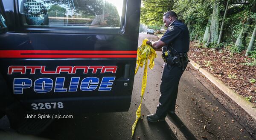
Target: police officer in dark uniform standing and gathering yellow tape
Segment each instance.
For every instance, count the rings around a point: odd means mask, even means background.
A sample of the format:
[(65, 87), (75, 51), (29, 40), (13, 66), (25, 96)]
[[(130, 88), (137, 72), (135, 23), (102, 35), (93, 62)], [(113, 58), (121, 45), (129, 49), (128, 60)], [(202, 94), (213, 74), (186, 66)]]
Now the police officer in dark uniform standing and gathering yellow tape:
[(162, 51), (165, 61), (160, 86), (160, 98), (155, 114), (147, 116), (149, 122), (165, 120), (167, 113), (175, 113), (180, 77), (188, 64), (189, 30), (174, 11), (163, 14), (163, 23), (167, 27), (163, 37), (158, 41), (149, 40), (156, 51)]

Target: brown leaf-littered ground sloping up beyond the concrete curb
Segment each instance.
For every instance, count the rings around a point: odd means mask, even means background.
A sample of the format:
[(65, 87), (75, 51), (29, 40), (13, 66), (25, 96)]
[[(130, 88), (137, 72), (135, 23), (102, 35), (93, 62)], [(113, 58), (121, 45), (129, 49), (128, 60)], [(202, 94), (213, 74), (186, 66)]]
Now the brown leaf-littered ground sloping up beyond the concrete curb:
[(237, 54), (225, 49), (198, 48), (197, 43), (191, 43), (189, 58), (256, 105), (256, 82), (253, 82), (256, 66), (245, 64), (253, 60), (244, 56), (244, 52)]

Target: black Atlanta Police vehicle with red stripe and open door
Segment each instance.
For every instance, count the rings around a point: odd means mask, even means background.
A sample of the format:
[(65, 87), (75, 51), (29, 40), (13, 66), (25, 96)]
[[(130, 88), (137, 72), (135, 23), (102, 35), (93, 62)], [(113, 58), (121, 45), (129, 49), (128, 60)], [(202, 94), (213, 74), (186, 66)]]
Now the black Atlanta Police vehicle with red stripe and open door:
[(140, 0), (0, 0), (0, 116), (128, 111)]

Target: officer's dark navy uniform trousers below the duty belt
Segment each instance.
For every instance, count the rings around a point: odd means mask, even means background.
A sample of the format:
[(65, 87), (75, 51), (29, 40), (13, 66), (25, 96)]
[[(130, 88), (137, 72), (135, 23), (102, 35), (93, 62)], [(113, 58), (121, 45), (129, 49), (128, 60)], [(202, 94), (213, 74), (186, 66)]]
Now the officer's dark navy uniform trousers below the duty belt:
[[(188, 62), (184, 63), (186, 68)], [(156, 110), (158, 117), (166, 117), (168, 111), (175, 111), (179, 81), (183, 72), (182, 67), (164, 63), (160, 85), (161, 95)]]

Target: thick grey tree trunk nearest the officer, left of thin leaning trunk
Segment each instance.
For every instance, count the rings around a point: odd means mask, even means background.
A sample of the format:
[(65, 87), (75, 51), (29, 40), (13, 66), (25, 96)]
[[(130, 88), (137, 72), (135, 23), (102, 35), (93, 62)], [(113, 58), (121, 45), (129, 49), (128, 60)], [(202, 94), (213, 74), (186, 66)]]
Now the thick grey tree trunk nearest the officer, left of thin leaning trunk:
[(219, 15), (218, 10), (219, 10), (219, 2), (218, 0), (215, 0), (214, 8), (212, 11), (210, 34), (209, 34), (209, 39), (207, 41), (206, 46), (209, 46), (210, 43), (215, 44), (218, 41), (218, 15)]

